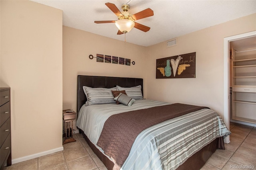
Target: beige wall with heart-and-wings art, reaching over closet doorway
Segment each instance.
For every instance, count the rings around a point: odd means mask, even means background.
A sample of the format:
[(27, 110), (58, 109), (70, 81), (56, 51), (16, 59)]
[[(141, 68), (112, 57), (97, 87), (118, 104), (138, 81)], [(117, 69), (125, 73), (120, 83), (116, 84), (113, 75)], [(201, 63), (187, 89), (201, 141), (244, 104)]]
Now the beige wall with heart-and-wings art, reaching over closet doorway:
[[(224, 115), (224, 37), (256, 30), (256, 14), (178, 37), (147, 48), (147, 96), (166, 102), (208, 106)], [(156, 79), (156, 59), (196, 52), (196, 78)]]

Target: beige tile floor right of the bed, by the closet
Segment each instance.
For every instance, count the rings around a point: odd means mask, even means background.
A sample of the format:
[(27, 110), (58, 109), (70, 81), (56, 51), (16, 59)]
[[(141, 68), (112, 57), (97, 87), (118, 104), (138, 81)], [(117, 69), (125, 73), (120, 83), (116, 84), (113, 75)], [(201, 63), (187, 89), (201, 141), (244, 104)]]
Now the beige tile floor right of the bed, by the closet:
[(201, 170), (256, 170), (256, 127), (230, 122), (230, 131), (225, 150), (216, 150)]

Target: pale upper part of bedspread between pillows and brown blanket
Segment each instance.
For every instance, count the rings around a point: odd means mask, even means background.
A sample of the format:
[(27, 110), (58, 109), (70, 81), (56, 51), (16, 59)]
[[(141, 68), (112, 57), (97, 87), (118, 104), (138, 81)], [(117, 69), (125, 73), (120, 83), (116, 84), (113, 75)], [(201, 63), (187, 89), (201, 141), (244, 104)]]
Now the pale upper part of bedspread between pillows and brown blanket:
[(79, 111), (76, 126), (82, 129), (88, 139), (96, 146), (104, 123), (111, 115), (168, 104), (170, 103), (148, 99), (136, 100), (132, 106), (124, 106), (123, 104), (115, 103), (90, 106), (85, 106), (84, 104)]

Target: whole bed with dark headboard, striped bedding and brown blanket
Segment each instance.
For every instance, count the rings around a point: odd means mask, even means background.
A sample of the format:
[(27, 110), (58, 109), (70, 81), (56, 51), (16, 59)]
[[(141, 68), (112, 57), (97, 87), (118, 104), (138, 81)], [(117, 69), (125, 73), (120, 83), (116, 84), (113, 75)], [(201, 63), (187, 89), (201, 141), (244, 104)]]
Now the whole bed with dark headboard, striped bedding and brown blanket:
[[(230, 131), (228, 131), (217, 113), (208, 107), (168, 104), (166, 102), (146, 100), (140, 98), (140, 95), (138, 95), (139, 98), (136, 98), (138, 97), (136, 96), (137, 93), (133, 98), (138, 100), (134, 100), (135, 102), (132, 103), (131, 106), (116, 104), (116, 102), (102, 104), (100, 103), (101, 101), (97, 99), (95, 101), (99, 103), (89, 104), (91, 101), (90, 95), (92, 96), (92, 94), (94, 94), (93, 91), (90, 94), (90, 90), (112, 88), (111, 90), (115, 91), (117, 86), (119, 87), (118, 90), (126, 92), (127, 94), (124, 94), (127, 96), (133, 95), (129, 92), (130, 88), (132, 89), (131, 91), (134, 92), (134, 88), (137, 89), (140, 87), (141, 95), (143, 96), (142, 78), (78, 75), (78, 119), (76, 125), (88, 145), (109, 170), (198, 170), (205, 164), (216, 149), (224, 149), (223, 138), (229, 135)], [(118, 94), (118, 99), (121, 98), (119, 96), (126, 96), (121, 95), (119, 92)], [(89, 101), (87, 101), (87, 98), (89, 98)], [(122, 100), (120, 100), (120, 102), (122, 102)], [(184, 111), (182, 111), (181, 114), (180, 108), (186, 109), (187, 113), (183, 113)], [(166, 110), (173, 110), (175, 114), (170, 115), (169, 113), (165, 113), (168, 112)], [(154, 112), (154, 114), (152, 114), (152, 120), (154, 121), (145, 121), (143, 114), (147, 115), (149, 112)], [(140, 115), (140, 117), (134, 118), (133, 115), (136, 114)], [(165, 118), (162, 119), (162, 117)], [(196, 121), (194, 120), (195, 117), (197, 117)], [(125, 125), (128, 119), (135, 124)], [(193, 127), (188, 127), (190, 119), (193, 119), (191, 120), (191, 122), (193, 122), (190, 123), (191, 125), (194, 124), (194, 127), (202, 127), (205, 129), (195, 130), (195, 132), (193, 132), (191, 130)], [(210, 119), (214, 119), (217, 123), (211, 123)], [(128, 129), (120, 130), (127, 128), (125, 126), (127, 126)], [(139, 129), (137, 126), (142, 129)], [(123, 132), (121, 133), (120, 131)], [(127, 135), (126, 138), (121, 137), (123, 138), (121, 142), (115, 141), (116, 138), (120, 137), (120, 134), (124, 135), (123, 133), (130, 133), (130, 136)], [(182, 138), (182, 135), (185, 133), (188, 135), (186, 139), (191, 138), (190, 140), (186, 141)], [(132, 137), (133, 135), (135, 137)], [(152, 135), (154, 137), (152, 137)], [(126, 134), (124, 136), (126, 136)], [(186, 142), (181, 145), (180, 143), (183, 141)], [(176, 147), (176, 145), (180, 146)], [(172, 160), (172, 157), (175, 157), (175, 161)]]

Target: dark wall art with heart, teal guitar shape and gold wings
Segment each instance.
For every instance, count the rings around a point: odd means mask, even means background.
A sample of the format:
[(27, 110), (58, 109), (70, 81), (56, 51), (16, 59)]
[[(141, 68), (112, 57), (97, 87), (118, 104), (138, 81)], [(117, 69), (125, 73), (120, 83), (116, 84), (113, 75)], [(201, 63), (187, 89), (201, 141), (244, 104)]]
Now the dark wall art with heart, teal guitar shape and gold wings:
[(196, 78), (196, 52), (156, 59), (156, 78)]

